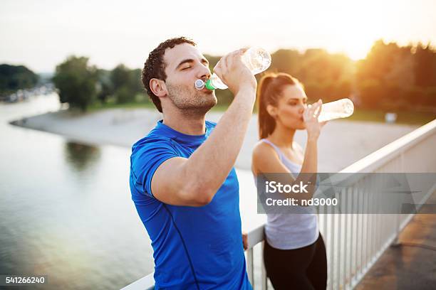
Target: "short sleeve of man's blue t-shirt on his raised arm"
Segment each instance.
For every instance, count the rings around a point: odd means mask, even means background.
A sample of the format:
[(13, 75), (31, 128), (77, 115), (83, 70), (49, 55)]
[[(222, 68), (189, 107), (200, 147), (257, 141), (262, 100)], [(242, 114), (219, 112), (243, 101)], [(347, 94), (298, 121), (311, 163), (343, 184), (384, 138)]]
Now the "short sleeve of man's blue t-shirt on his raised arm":
[(166, 138), (146, 138), (133, 146), (130, 164), (135, 188), (154, 198), (151, 190), (152, 177), (156, 169), (170, 158), (177, 157), (171, 140)]

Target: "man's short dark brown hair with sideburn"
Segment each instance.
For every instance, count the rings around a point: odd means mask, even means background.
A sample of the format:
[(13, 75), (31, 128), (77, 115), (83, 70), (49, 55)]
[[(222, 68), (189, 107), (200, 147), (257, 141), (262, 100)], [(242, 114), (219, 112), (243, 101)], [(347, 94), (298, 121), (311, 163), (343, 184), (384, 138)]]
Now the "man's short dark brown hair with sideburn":
[(150, 89), (150, 80), (152, 78), (164, 81), (167, 79), (167, 75), (165, 74), (165, 62), (163, 59), (165, 55), (165, 50), (167, 48), (174, 48), (175, 45), (179, 45), (182, 43), (189, 43), (193, 46), (197, 45), (196, 43), (194, 43), (194, 41), (189, 38), (185, 38), (184, 36), (178, 38), (170, 38), (160, 43), (160, 45), (157, 45), (157, 48), (152, 50), (152, 52), (148, 55), (147, 60), (145, 60), (144, 68), (142, 69), (141, 79), (142, 83), (144, 84), (145, 90), (147, 91), (150, 99), (155, 104), (157, 110), (161, 113), (162, 104), (160, 104), (159, 97), (153, 94), (152, 90)]

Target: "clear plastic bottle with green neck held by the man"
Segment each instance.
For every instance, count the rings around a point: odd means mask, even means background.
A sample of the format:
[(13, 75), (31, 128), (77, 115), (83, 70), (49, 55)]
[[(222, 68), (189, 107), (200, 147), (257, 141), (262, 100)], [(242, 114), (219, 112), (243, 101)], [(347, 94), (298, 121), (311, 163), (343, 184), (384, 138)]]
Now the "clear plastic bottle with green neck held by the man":
[[(253, 75), (257, 75), (269, 68), (269, 65), (271, 65), (271, 55), (263, 48), (249, 48), (242, 55), (242, 62), (251, 70)], [(206, 82), (196, 80), (194, 85), (197, 90), (202, 90), (204, 87), (207, 90), (227, 89), (227, 85), (224, 85), (224, 82), (215, 73)]]

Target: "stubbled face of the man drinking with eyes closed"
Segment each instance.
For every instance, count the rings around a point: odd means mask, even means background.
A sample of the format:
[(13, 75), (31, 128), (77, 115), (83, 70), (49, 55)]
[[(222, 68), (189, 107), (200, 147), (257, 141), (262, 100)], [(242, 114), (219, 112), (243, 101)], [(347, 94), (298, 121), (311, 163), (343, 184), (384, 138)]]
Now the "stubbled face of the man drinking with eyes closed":
[(165, 50), (164, 61), (168, 97), (175, 107), (194, 114), (206, 114), (217, 104), (214, 91), (197, 90), (195, 80), (207, 80), (210, 76), (209, 62), (199, 50), (189, 43)]

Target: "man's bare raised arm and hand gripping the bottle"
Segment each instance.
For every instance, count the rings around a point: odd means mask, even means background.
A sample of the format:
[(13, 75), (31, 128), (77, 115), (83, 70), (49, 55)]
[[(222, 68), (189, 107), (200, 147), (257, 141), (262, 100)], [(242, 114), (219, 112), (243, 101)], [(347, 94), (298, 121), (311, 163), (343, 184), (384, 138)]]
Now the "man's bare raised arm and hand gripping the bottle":
[(155, 171), (152, 194), (163, 203), (207, 205), (232, 170), (256, 100), (256, 79), (242, 63), (243, 53), (226, 55), (214, 69), (234, 100), (212, 134), (190, 158), (168, 159)]

